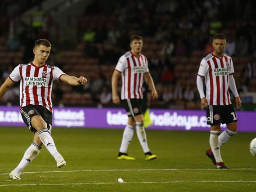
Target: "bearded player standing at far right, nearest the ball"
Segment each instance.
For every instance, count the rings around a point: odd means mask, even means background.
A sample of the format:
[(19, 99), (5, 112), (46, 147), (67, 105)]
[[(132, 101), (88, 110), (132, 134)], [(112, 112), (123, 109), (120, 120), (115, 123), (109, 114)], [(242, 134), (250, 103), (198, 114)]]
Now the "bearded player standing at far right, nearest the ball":
[[(241, 100), (238, 95), (232, 58), (223, 51), (226, 37), (217, 33), (212, 42), (214, 52), (202, 59), (197, 76), (197, 87), (202, 107), (206, 107), (207, 124), (211, 125), (210, 146), (206, 155), (216, 165), (216, 169), (228, 169), (220, 156), (220, 147), (237, 133), (237, 116), (230, 100), (229, 89), (235, 96), (235, 104), (239, 109)], [(203, 90), (203, 77), (206, 83), (206, 96)], [(220, 124), (227, 129), (220, 134)]]

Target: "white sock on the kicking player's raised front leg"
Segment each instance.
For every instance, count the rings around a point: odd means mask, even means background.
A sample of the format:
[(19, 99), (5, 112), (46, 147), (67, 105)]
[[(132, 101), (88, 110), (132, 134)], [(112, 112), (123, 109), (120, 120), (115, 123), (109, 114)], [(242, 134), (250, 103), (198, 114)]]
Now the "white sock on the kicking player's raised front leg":
[[(39, 136), (41, 142), (45, 145), (46, 149), (54, 157), (54, 154), (58, 153), (58, 151), (55, 147), (54, 139), (50, 135), (48, 129), (41, 129), (37, 133), (38, 133), (38, 136)], [(54, 159), (56, 160), (55, 157), (54, 157)]]

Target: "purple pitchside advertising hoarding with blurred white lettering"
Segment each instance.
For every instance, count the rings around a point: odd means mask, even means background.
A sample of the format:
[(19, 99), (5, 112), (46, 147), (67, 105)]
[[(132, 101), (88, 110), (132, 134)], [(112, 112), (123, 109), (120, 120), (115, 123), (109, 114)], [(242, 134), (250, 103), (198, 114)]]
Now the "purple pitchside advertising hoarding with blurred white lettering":
[[(205, 111), (150, 109), (149, 114), (148, 129), (209, 131)], [(256, 112), (237, 112), (237, 117), (239, 131), (256, 132)], [(126, 123), (121, 108), (54, 107), (54, 127), (123, 129)], [(0, 126), (25, 126), (19, 107), (0, 106)]]

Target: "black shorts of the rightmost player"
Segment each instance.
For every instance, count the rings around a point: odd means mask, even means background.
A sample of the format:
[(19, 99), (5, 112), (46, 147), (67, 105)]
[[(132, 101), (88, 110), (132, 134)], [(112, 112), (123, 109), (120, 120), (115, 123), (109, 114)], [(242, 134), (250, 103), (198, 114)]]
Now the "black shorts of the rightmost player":
[(206, 110), (207, 125), (229, 124), (237, 122), (233, 105), (210, 105)]

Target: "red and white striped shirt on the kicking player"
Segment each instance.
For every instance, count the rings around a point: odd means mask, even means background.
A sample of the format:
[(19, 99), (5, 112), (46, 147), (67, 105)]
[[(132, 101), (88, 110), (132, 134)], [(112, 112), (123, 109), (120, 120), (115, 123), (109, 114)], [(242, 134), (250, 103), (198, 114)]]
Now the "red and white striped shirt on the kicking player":
[(41, 105), (53, 112), (51, 99), (53, 81), (64, 75), (58, 67), (43, 65), (36, 67), (32, 62), (20, 64), (13, 69), (9, 78), (20, 80), (20, 107)]

